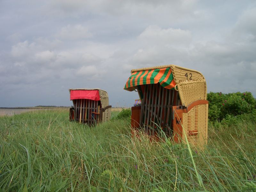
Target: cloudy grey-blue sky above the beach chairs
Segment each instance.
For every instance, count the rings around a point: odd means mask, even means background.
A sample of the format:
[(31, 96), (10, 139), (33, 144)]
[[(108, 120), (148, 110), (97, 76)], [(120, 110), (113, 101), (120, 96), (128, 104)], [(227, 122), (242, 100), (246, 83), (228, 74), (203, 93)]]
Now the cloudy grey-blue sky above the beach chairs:
[(0, 0), (0, 107), (71, 106), (69, 88), (131, 107), (131, 69), (169, 64), (256, 97), (256, 2)]

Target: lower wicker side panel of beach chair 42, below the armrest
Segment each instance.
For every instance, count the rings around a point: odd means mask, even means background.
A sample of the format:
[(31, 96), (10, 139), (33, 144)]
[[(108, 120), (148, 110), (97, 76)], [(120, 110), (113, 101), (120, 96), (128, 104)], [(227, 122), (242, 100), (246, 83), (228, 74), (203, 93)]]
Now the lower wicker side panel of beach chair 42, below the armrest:
[[(183, 113), (183, 129), (190, 144), (203, 148), (208, 138), (208, 104), (197, 105), (188, 113)], [(198, 134), (189, 135), (189, 131), (195, 131)], [(182, 138), (185, 142), (184, 132)]]

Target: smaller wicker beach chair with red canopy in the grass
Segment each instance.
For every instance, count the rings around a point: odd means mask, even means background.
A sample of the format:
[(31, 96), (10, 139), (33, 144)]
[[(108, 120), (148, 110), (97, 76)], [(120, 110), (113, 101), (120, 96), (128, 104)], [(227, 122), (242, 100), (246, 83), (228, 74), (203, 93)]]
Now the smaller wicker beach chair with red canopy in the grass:
[(79, 123), (98, 124), (106, 122), (111, 116), (111, 106), (108, 105), (108, 93), (95, 89), (69, 89), (73, 108), (69, 109), (69, 120)]

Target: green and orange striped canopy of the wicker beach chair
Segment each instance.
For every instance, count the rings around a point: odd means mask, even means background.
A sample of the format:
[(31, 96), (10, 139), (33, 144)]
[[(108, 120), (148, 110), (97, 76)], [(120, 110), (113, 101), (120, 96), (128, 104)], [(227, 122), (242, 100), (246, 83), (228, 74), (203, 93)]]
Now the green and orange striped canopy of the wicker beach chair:
[(160, 83), (166, 89), (174, 88), (175, 81), (172, 75), (171, 68), (151, 69), (134, 71), (126, 81), (124, 89), (134, 91), (137, 85), (156, 84)]

